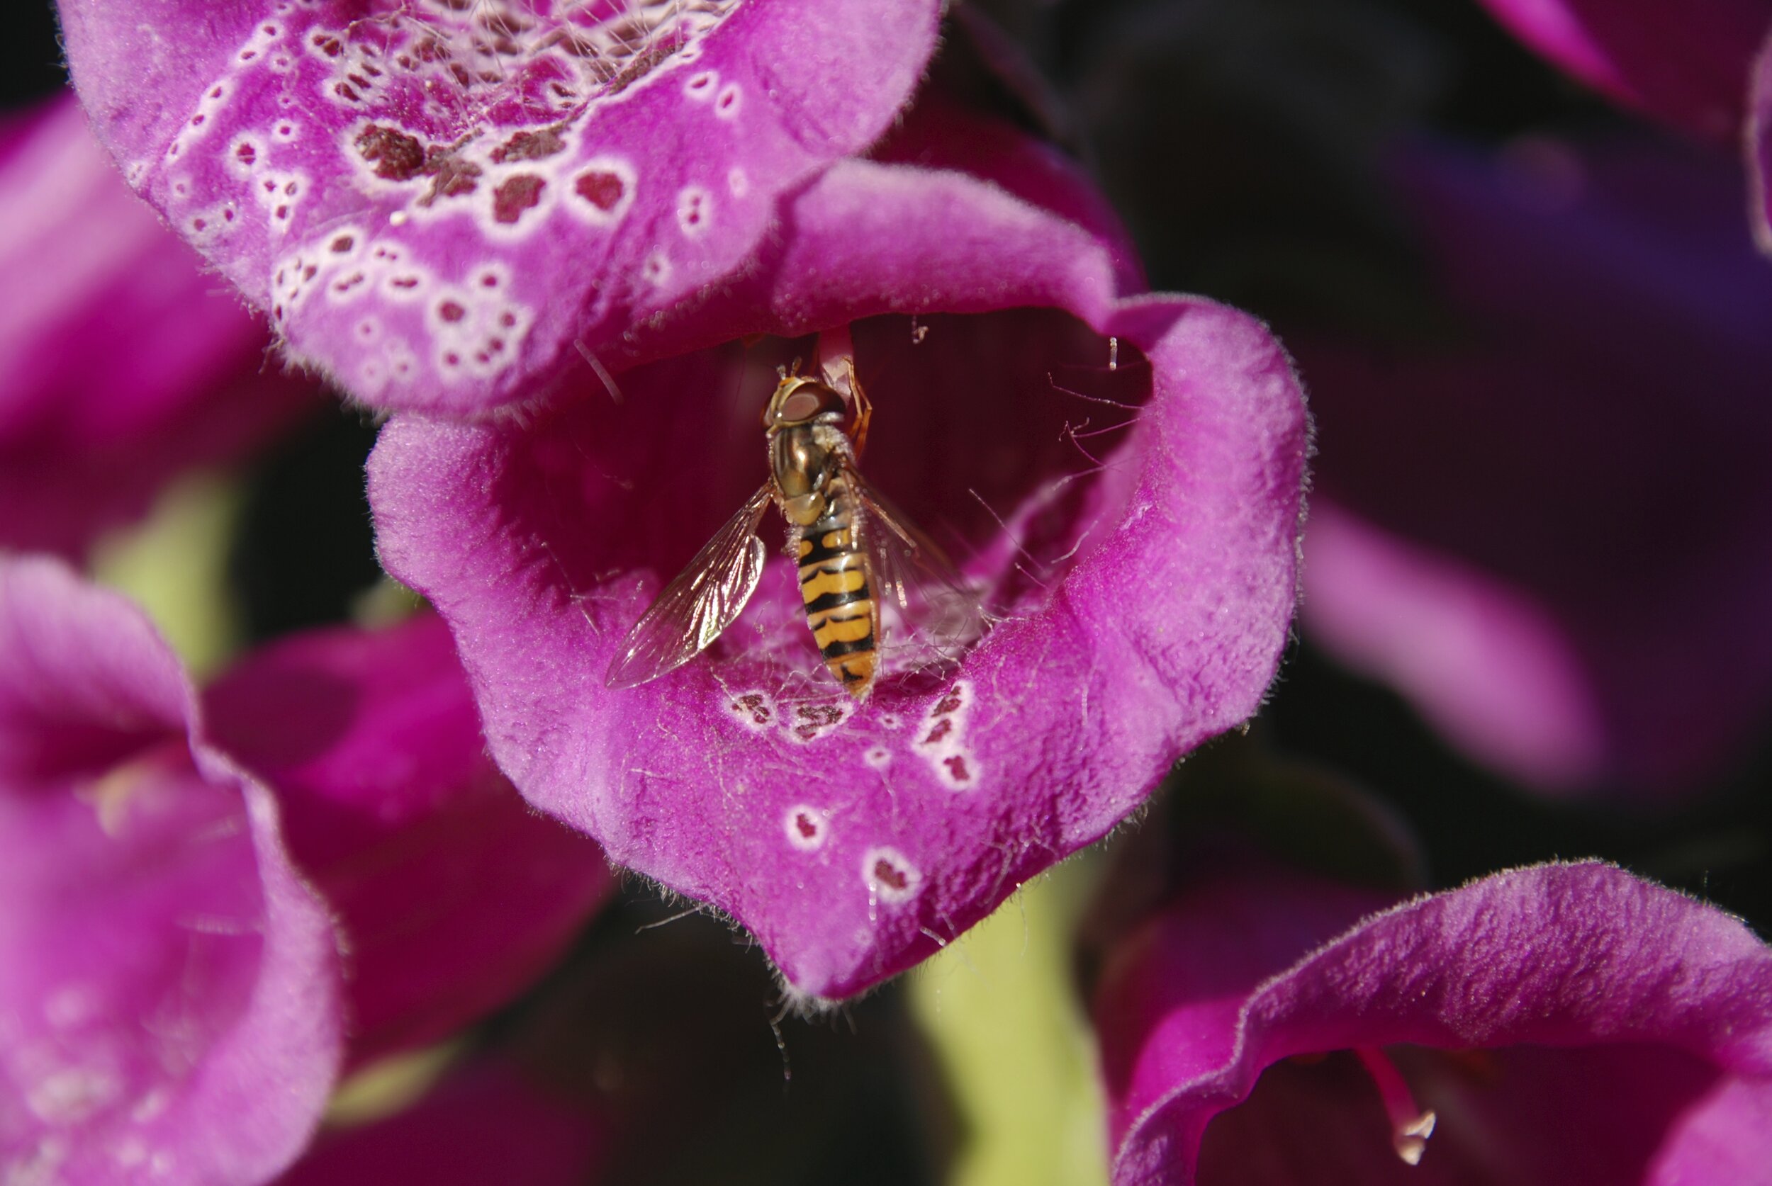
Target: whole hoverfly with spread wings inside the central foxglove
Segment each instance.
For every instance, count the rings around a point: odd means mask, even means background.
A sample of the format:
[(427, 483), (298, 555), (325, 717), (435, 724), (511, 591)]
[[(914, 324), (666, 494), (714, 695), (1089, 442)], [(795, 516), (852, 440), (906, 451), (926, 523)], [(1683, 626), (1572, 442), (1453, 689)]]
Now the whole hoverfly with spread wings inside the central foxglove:
[[(627, 632), (604, 676), (608, 687), (634, 687), (680, 667), (737, 620), (762, 579), (767, 549), (757, 528), (771, 503), (787, 520), (812, 637), (856, 699), (867, 697), (879, 674), (884, 605), (907, 621), (914, 597), (920, 609), (939, 614), (923, 628), (948, 641), (964, 641), (983, 625), (976, 598), (941, 547), (856, 467), (874, 409), (854, 363), (826, 366), (824, 381), (801, 375), (797, 359), (778, 374), (762, 416), (769, 480)], [(838, 386), (852, 393), (852, 405)]]

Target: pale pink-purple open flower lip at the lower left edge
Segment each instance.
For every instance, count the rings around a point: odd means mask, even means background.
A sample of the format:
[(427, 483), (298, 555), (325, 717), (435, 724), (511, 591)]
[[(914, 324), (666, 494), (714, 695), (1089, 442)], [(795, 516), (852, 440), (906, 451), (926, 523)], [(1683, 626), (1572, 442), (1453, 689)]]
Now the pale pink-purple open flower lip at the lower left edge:
[(262, 1182), (338, 1066), (338, 968), (276, 805), (147, 620), (0, 561), (0, 1172)]

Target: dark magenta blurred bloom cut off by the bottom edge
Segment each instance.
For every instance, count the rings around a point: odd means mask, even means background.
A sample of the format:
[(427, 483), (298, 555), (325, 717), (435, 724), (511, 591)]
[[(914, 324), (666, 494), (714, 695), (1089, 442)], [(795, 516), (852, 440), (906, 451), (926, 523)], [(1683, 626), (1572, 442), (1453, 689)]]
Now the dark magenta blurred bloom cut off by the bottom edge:
[(390, 1117), (323, 1133), (278, 1186), (588, 1186), (606, 1144), (583, 1103), (500, 1062), (452, 1071)]

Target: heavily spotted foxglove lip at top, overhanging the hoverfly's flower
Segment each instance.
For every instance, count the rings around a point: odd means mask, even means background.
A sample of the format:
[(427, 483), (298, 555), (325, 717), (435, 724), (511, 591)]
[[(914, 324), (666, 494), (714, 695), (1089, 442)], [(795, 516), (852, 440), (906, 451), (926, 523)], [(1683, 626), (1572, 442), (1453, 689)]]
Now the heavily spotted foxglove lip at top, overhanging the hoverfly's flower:
[(937, 19), (932, 0), (60, 7), (101, 140), (291, 356), (450, 412), (530, 400), (741, 269), (781, 195), (888, 127)]

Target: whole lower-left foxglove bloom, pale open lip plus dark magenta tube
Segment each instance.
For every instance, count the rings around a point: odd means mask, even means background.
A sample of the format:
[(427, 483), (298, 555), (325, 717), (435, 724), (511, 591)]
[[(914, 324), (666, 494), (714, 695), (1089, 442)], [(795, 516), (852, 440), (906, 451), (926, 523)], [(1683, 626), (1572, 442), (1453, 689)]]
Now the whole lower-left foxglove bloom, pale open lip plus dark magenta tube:
[(291, 639), (204, 708), (120, 598), (0, 561), (0, 1170), (19, 1181), (268, 1181), (342, 1062), (503, 1004), (610, 889), (595, 844), (491, 768), (434, 618)]

